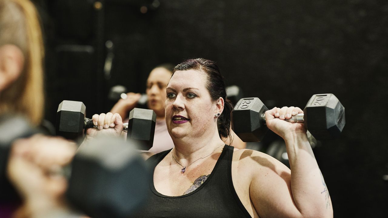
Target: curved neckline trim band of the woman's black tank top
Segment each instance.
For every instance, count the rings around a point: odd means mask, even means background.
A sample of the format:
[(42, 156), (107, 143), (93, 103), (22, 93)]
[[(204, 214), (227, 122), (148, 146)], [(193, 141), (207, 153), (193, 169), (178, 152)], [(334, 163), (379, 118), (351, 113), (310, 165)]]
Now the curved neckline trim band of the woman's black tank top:
[(160, 157), (158, 157), (159, 160), (158, 160), (158, 162), (156, 163), (156, 165), (154, 166), (154, 168), (153, 168), (152, 171), (151, 171), (151, 178), (150, 178), (150, 182), (149, 182), (150, 189), (151, 189), (152, 192), (153, 192), (154, 194), (156, 194), (157, 196), (159, 196), (159, 197), (166, 197), (166, 198), (180, 198), (180, 197), (187, 197), (187, 196), (191, 196), (192, 194), (195, 194), (196, 192), (198, 192), (199, 190), (201, 190), (203, 187), (205, 187), (206, 184), (211, 180), (211, 177), (213, 177), (215, 171), (217, 170), (218, 165), (220, 164), (220, 160), (222, 159), (222, 157), (223, 157), (223, 156), (225, 155), (225, 153), (227, 152), (228, 147), (229, 147), (229, 145), (224, 145), (224, 146), (223, 146), (223, 149), (222, 149), (222, 152), (221, 152), (221, 154), (220, 154), (220, 157), (218, 157), (218, 160), (217, 160), (216, 164), (214, 165), (214, 168), (213, 168), (213, 170), (211, 171), (210, 176), (205, 180), (205, 182), (204, 182), (202, 185), (200, 185), (196, 190), (194, 190), (194, 191), (192, 191), (192, 192), (190, 192), (190, 193), (188, 193), (188, 194), (184, 194), (184, 195), (180, 195), (180, 196), (166, 196), (166, 195), (164, 195), (164, 194), (159, 193), (159, 192), (155, 189), (155, 185), (154, 185), (154, 172), (155, 172), (155, 168), (156, 168), (156, 166), (160, 163), (160, 161), (162, 161), (163, 158), (164, 158), (165, 156), (167, 156), (168, 153), (170, 153), (170, 151), (171, 151), (172, 149), (168, 150), (168, 152), (166, 152), (166, 154), (163, 154), (163, 155), (161, 155)]

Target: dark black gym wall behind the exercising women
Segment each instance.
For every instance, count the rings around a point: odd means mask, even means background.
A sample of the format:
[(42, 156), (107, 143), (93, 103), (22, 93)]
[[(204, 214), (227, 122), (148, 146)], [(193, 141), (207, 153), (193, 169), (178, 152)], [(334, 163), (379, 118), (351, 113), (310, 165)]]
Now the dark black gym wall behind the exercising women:
[[(44, 5), (42, 14), (52, 27), (46, 30), (54, 29), (47, 33), (47, 49), (56, 54), (55, 49), (74, 36), (55, 31), (67, 22), (66, 13), (58, 17), (55, 12), (61, 10), (55, 4), (63, 1), (47, 2), (38, 4)], [(387, 216), (388, 183), (382, 176), (388, 173), (388, 2), (111, 0), (101, 1), (97, 15), (95, 1), (76, 2), (87, 4), (82, 10), (90, 10), (88, 21), (100, 30), (87, 29), (92, 32), (87, 40), (71, 43), (103, 48), (104, 55), (87, 56), (90, 59), (79, 63), (82, 71), (72, 65), (76, 73), (59, 81), (52, 75), (61, 60), (58, 55), (47, 57), (48, 119), (55, 118), (65, 98), (87, 101), (93, 113), (106, 112), (111, 107), (107, 90), (113, 85), (144, 92), (154, 66), (191, 57), (217, 61), (227, 85), (238, 85), (246, 97), (259, 97), (271, 106), (303, 108), (315, 93), (334, 93), (346, 108), (343, 134), (314, 149), (334, 216)], [(159, 5), (152, 5), (155, 2)], [(142, 6), (146, 13), (140, 12)], [(73, 10), (80, 7), (74, 5)], [(68, 17), (72, 25), (77, 25), (77, 16), (85, 24), (81, 15)], [(83, 33), (82, 28), (76, 31)], [(99, 34), (103, 40), (97, 40)], [(113, 42), (114, 59), (111, 77), (104, 79), (101, 61), (107, 40)], [(92, 86), (82, 85), (91, 80)], [(66, 87), (76, 91), (69, 94)]]

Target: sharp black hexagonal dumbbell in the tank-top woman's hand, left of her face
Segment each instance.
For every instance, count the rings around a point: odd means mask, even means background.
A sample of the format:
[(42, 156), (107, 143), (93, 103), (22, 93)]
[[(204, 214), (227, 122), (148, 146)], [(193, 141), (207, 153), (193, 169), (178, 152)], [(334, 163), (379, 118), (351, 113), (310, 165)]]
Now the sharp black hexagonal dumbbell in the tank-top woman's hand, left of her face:
[[(85, 128), (97, 128), (92, 119), (86, 118), (85, 104), (79, 101), (64, 100), (59, 104), (56, 119), (56, 135), (76, 140), (83, 136)], [(141, 150), (149, 150), (154, 142), (156, 114), (149, 109), (134, 108), (129, 114), (127, 141), (136, 141)]]

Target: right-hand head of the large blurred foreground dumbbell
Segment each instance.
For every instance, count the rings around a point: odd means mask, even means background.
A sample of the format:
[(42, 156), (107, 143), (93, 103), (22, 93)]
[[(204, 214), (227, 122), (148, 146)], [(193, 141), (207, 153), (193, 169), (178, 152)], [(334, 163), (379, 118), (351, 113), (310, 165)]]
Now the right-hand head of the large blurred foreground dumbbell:
[(131, 217), (146, 200), (149, 169), (121, 138), (105, 136), (81, 144), (67, 171), (66, 199), (90, 217)]

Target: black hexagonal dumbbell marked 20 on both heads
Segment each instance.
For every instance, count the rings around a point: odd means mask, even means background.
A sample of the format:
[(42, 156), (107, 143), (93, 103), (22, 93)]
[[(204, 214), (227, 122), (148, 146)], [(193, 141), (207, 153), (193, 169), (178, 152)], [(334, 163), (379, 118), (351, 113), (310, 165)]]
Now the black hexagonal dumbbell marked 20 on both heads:
[[(260, 142), (268, 131), (264, 117), (267, 110), (258, 98), (240, 99), (232, 111), (232, 130), (244, 142)], [(345, 107), (333, 94), (317, 94), (307, 102), (303, 114), (286, 121), (305, 123), (317, 140), (333, 139), (345, 126)]]

